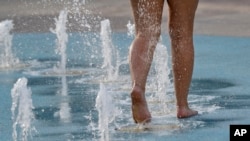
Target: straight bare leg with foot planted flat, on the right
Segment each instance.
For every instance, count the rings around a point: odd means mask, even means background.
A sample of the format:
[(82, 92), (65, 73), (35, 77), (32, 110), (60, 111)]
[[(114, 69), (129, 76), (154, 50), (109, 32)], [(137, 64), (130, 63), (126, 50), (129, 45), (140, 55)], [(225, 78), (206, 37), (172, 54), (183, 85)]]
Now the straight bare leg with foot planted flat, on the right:
[(193, 23), (197, 4), (198, 0), (168, 0), (178, 118), (198, 114), (189, 108), (187, 100), (194, 64)]

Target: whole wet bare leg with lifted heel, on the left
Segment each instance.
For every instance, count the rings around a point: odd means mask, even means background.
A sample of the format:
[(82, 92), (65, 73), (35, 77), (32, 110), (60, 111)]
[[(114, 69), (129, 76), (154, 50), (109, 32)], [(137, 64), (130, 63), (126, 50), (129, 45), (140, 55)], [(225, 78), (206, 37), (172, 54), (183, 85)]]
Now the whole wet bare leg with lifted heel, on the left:
[(154, 49), (159, 40), (164, 0), (131, 0), (136, 37), (129, 53), (132, 114), (136, 123), (151, 119), (145, 98), (145, 85), (152, 63)]

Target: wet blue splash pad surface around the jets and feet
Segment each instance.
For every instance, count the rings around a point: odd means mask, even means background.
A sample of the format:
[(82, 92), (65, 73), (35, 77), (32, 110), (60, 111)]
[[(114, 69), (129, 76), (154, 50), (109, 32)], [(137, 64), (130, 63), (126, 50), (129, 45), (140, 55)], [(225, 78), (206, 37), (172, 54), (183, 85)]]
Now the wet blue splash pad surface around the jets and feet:
[[(88, 34), (92, 37), (92, 33)], [(126, 33), (114, 33), (112, 37), (121, 60), (126, 60), (132, 39)], [(189, 101), (200, 114), (189, 119), (176, 119), (174, 108), (171, 107), (174, 100), (171, 98), (168, 101), (168, 111), (159, 112), (158, 101), (150, 98), (154, 88), (149, 88), (147, 94), (152, 123), (174, 124), (178, 128), (141, 132), (115, 130), (133, 125), (127, 64), (120, 66), (116, 81), (104, 80), (101, 56), (92, 56), (92, 49), (100, 47), (99, 39), (88, 47), (80, 34), (71, 33), (67, 48), (67, 69), (84, 73), (44, 75), (47, 70), (50, 72), (54, 69), (60, 58), (54, 53), (55, 38), (51, 33), (13, 36), (14, 53), (20, 62), (28, 65), (19, 69), (0, 70), (1, 140), (12, 140), (10, 91), (20, 77), (28, 79), (28, 87), (32, 91), (35, 116), (32, 126), (36, 128), (36, 132), (32, 133), (29, 140), (100, 140), (98, 112), (95, 107), (100, 82), (104, 84), (106, 93), (112, 94), (115, 107), (118, 108), (116, 118), (109, 124), (109, 140), (193, 141), (202, 137), (203, 141), (221, 141), (229, 140), (230, 124), (249, 124), (248, 38), (195, 36), (196, 60)], [(169, 46), (168, 39), (164, 36), (163, 44)], [(168, 95), (171, 97), (173, 93)]]

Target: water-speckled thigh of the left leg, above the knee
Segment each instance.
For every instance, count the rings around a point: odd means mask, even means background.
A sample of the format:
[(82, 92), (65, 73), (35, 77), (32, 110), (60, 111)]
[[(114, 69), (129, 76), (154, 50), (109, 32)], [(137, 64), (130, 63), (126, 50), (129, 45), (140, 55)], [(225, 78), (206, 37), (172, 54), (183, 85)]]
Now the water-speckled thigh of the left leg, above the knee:
[(136, 33), (159, 33), (164, 0), (130, 0)]

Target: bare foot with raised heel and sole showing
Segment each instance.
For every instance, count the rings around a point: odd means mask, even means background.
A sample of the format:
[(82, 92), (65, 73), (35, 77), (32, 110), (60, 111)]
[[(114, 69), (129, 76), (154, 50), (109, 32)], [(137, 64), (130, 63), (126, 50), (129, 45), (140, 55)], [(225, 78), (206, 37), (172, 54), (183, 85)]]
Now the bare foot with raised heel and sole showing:
[(132, 114), (135, 123), (147, 123), (151, 121), (145, 95), (142, 89), (134, 87), (131, 92)]

